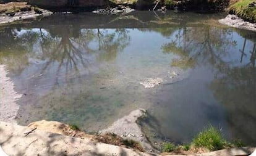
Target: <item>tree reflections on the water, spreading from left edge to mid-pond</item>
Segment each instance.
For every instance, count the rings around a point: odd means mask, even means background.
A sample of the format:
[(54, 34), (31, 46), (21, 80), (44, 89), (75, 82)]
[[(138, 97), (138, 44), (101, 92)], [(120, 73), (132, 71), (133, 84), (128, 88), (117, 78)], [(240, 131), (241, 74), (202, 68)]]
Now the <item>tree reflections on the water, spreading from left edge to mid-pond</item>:
[[(95, 63), (95, 57), (100, 61), (113, 60), (117, 52), (129, 44), (127, 33), (125, 29), (93, 30), (72, 26), (22, 31), (8, 28), (1, 32), (1, 37), (6, 38), (0, 39), (3, 45), (0, 52), (4, 55), (1, 62), (10, 69), (16, 68), (15, 70), (22, 72), (29, 65), (28, 59), (32, 59), (43, 62), (40, 74), (45, 74), (54, 67), (56, 71), (53, 73), (56, 75), (68, 75), (73, 70), (80, 74), (80, 70)], [(98, 43), (98, 48), (90, 45), (93, 43)], [(14, 65), (18, 62), (19, 65)], [(17, 68), (21, 64), (24, 67)]]

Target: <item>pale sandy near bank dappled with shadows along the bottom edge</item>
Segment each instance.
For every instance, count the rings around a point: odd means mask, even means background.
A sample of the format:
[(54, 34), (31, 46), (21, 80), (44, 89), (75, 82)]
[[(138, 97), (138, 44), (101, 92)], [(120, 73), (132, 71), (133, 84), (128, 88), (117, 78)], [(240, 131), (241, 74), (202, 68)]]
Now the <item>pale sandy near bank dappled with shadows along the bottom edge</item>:
[[(56, 121), (39, 121), (31, 123), (30, 127), (0, 121), (1, 148), (7, 155), (156, 155), (97, 142), (90, 135), (84, 138), (66, 136), (67, 131), (72, 131), (66, 128), (67, 125)], [(249, 155), (254, 150), (240, 147), (195, 155)]]

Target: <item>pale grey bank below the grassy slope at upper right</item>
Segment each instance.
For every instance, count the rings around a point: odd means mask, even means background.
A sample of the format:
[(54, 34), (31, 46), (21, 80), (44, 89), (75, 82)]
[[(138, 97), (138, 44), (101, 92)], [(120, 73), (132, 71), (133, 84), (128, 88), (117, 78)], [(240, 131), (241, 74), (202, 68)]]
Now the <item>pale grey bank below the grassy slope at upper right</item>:
[(256, 31), (256, 23), (246, 22), (242, 18), (237, 17), (237, 15), (228, 15), (226, 18), (219, 20), (219, 22), (234, 28)]

